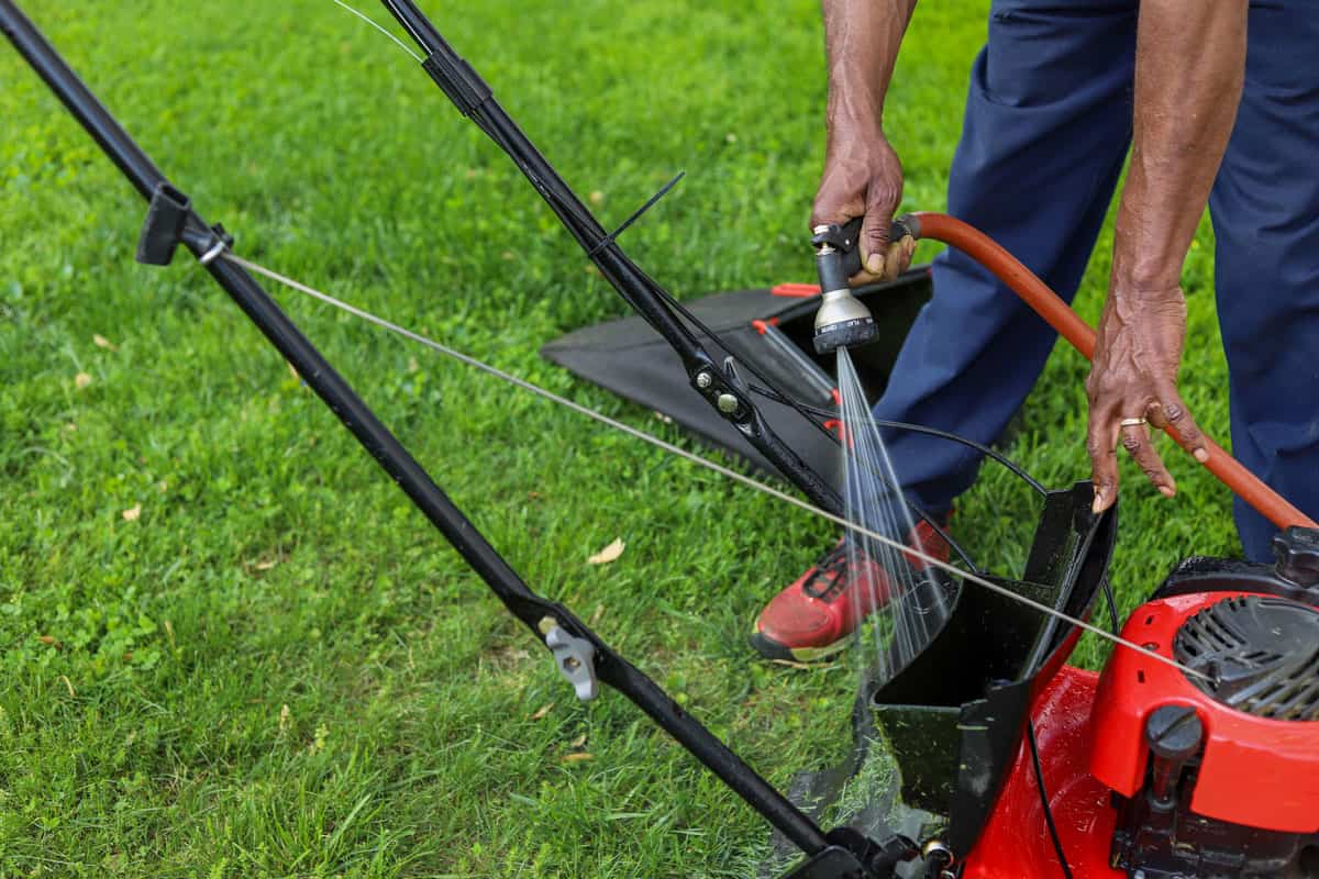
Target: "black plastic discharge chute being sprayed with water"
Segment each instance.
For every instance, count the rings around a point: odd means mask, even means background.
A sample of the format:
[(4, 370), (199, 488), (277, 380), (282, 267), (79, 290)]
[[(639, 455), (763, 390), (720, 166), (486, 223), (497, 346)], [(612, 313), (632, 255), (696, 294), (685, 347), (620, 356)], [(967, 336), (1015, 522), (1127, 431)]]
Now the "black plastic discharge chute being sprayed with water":
[[(1087, 618), (1108, 573), (1116, 506), (1089, 510), (1089, 482), (1051, 492), (1022, 580), (993, 582)], [(980, 837), (1021, 745), (1031, 697), (1062, 667), (1079, 630), (964, 585), (943, 630), (888, 683), (861, 691), (889, 741), (907, 805), (948, 818), (944, 842), (966, 855)]]

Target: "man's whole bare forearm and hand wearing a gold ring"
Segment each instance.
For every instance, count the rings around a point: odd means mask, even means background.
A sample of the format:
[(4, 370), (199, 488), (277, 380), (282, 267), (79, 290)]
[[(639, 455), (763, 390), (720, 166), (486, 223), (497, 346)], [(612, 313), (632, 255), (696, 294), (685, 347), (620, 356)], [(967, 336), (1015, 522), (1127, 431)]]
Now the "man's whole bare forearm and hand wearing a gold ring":
[(1245, 25), (1246, 0), (1141, 0), (1132, 162), (1086, 383), (1096, 513), (1117, 499), (1119, 440), (1159, 492), (1177, 490), (1149, 430), (1134, 419), (1171, 426), (1186, 451), (1208, 460), (1204, 438), (1177, 393), (1186, 341), (1179, 279), (1236, 120)]

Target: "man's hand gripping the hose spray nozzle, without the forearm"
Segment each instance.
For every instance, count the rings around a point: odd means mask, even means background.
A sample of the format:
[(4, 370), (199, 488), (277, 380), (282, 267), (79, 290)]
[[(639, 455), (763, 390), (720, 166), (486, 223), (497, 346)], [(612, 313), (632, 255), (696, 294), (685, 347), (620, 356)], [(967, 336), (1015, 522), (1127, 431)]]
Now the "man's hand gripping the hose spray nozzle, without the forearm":
[(889, 240), (893, 213), (902, 200), (902, 163), (878, 127), (853, 127), (839, 119), (831, 121), (824, 175), (815, 194), (811, 228), (830, 223), (843, 225), (864, 216), (859, 242), (861, 271), (851, 281), (892, 281), (911, 264), (915, 250), (915, 240), (910, 236), (901, 241)]

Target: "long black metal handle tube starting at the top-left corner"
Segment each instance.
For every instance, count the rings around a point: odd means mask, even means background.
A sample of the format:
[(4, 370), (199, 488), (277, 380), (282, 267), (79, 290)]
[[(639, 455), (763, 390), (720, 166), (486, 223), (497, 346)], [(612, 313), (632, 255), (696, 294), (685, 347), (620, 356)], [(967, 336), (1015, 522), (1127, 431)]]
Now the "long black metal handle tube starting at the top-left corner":
[[(133, 142), (11, 0), (0, 0), (0, 30), (15, 43), (24, 59), (46, 80), (51, 91), (82, 123), (83, 128), (144, 198), (149, 199), (157, 186), (169, 184), (169, 181), (141, 148)], [(206, 227), (206, 221), (193, 212), (190, 225)], [(185, 236), (183, 242), (198, 258), (206, 252), (206, 244), (203, 244), (200, 236)], [(315, 345), (270, 299), (261, 285), (240, 265), (230, 260), (211, 260), (206, 269), (270, 344), (293, 365), (307, 386), (324, 401), (326, 406), (393, 477), (413, 503), (439, 528), (463, 556), (463, 560), (480, 575), (495, 594), (513, 610), (514, 615), (534, 630), (534, 622), (528, 621), (525, 614), (520, 614), (516, 608), (524, 601), (543, 602), (546, 606), (549, 602), (545, 602), (522, 582), (504, 557), (495, 551), (462, 510), (448, 499), (421, 464), (408, 453), (367, 403), (357, 397), (348, 382), (335, 372)], [(579, 627), (599, 640), (590, 629)], [(612, 650), (607, 650), (600, 656), (599, 675), (601, 680), (619, 689), (650, 716), (690, 754), (806, 854), (814, 855), (828, 845), (824, 833), (814, 821), (744, 763), (718, 737), (687, 714), (658, 684), (625, 659)]]

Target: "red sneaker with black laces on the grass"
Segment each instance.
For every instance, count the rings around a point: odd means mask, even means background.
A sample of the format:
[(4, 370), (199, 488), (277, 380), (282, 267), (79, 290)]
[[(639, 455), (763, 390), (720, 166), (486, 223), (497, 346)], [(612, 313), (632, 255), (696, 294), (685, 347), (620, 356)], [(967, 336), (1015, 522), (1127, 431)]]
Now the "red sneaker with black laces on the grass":
[[(918, 522), (907, 535), (909, 547), (922, 547), (926, 555), (948, 559), (948, 544), (926, 522)], [(929, 563), (907, 556), (922, 571)], [(756, 618), (752, 647), (768, 659), (799, 663), (818, 662), (847, 647), (861, 622), (882, 608), (893, 588), (884, 565), (873, 559), (857, 563), (856, 571), (839, 540), (815, 565), (780, 592)]]

